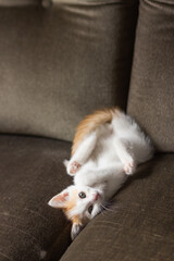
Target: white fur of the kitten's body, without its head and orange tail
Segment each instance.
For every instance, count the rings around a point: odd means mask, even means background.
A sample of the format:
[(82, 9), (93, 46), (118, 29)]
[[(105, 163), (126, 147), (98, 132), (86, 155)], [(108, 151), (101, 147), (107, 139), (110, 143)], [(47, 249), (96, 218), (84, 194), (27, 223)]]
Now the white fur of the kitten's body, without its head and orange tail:
[(104, 200), (110, 199), (136, 171), (137, 164), (153, 156), (150, 139), (138, 124), (123, 112), (115, 114), (111, 124), (103, 124), (80, 144), (66, 171), (70, 175), (73, 162), (82, 166), (74, 176), (75, 186), (100, 187)]

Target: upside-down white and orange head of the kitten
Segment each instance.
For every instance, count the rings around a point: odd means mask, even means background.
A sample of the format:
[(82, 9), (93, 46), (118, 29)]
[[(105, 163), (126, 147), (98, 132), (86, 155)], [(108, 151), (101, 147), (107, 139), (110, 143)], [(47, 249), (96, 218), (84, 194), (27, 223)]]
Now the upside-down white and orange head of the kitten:
[(82, 228), (101, 211), (101, 190), (87, 186), (70, 186), (54, 196), (49, 206), (62, 209), (72, 221), (71, 236), (74, 239)]

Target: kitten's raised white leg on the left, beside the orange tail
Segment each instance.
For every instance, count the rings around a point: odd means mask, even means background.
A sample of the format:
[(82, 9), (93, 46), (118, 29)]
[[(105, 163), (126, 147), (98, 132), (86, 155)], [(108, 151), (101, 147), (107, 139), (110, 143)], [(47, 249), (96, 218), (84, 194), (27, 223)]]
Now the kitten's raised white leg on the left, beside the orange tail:
[(74, 175), (83, 164), (89, 159), (91, 152), (94, 151), (97, 142), (97, 133), (94, 132), (88, 135), (79, 145), (70, 162), (67, 163), (66, 171), (67, 174)]

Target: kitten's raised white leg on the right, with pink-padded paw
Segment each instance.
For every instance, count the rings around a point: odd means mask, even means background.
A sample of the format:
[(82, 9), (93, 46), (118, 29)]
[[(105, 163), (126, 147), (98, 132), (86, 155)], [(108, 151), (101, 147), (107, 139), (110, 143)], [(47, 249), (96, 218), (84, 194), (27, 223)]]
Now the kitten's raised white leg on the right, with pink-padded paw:
[(130, 144), (125, 139), (115, 139), (114, 147), (116, 154), (124, 165), (124, 171), (127, 175), (133, 175), (136, 171), (136, 161), (130, 153)]

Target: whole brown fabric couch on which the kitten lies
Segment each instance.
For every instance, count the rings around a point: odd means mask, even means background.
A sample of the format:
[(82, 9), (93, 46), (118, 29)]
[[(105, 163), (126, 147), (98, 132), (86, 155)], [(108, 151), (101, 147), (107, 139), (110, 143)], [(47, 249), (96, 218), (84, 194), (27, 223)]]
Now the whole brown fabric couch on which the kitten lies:
[[(0, 0), (0, 261), (174, 260), (173, 0)], [(78, 122), (119, 105), (157, 149), (72, 243), (48, 201)]]

